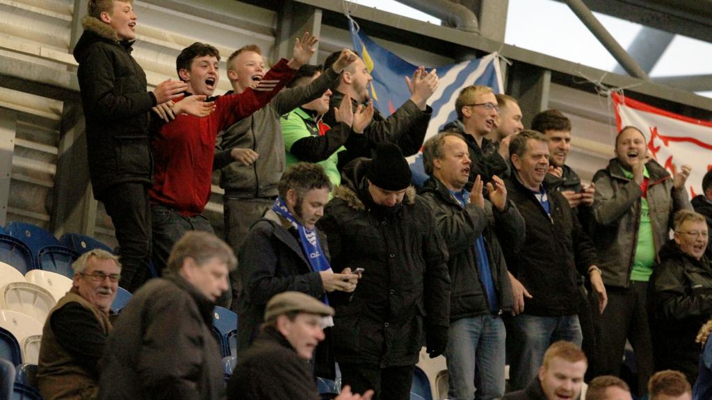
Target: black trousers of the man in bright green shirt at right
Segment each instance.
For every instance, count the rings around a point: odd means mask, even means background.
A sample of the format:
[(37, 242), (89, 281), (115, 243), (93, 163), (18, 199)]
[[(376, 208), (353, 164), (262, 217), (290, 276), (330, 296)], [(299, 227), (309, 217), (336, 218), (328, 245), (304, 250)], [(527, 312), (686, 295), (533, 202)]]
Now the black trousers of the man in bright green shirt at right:
[(653, 345), (646, 308), (647, 282), (632, 282), (628, 288), (607, 286), (608, 305), (595, 318), (598, 344), (597, 375), (619, 376), (626, 340), (635, 354), (638, 395), (648, 391), (653, 372)]

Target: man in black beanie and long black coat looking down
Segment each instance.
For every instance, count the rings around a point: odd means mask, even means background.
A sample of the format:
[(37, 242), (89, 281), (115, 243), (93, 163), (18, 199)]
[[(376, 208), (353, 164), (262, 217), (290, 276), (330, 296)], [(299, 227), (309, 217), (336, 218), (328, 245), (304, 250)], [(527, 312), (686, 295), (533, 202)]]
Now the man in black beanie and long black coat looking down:
[(331, 333), (343, 384), (374, 399), (409, 399), (422, 332), (431, 357), (448, 339), (447, 250), (410, 182), (400, 149), (382, 142), (344, 167), (318, 222), (334, 272), (363, 268), (353, 293), (330, 295)]

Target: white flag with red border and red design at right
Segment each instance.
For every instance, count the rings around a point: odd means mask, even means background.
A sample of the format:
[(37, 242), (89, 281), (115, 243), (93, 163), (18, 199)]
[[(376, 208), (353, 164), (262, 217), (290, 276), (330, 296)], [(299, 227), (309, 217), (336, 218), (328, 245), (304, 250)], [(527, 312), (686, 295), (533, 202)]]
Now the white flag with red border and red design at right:
[(702, 177), (712, 169), (712, 122), (695, 120), (612, 94), (616, 124), (637, 127), (648, 142), (648, 153), (674, 176), (684, 164), (692, 167), (685, 184), (690, 199), (702, 194)]

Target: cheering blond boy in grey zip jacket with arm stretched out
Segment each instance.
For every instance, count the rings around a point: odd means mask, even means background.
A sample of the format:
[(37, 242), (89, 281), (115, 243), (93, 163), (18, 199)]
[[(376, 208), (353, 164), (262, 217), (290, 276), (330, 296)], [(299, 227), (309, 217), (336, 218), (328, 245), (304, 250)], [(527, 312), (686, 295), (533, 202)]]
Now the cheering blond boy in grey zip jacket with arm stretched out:
[[(278, 196), (279, 179), (286, 169), (280, 117), (320, 98), (356, 58), (349, 50), (341, 51), (334, 65), (313, 82), (281, 90), (267, 105), (220, 132), (215, 142), (213, 168), (221, 171), (220, 187), (225, 189), (225, 236), (237, 256), (250, 227), (261, 219)], [(232, 86), (227, 94), (241, 94), (256, 88), (265, 77), (262, 52), (253, 44), (232, 53), (227, 65)], [(231, 282), (231, 309), (236, 311), (241, 288), (235, 274)]]

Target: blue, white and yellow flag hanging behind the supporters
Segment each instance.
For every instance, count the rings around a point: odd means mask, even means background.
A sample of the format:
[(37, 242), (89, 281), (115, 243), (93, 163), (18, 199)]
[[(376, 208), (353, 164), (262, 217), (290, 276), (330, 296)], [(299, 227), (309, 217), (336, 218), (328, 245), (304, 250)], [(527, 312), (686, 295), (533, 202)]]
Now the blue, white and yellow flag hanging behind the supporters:
[[(408, 63), (377, 45), (360, 31), (352, 20), (349, 21), (349, 28), (354, 49), (363, 58), (373, 77), (370, 88), (373, 104), (382, 115), (391, 115), (410, 98), (404, 77), (412, 77), (418, 65)], [(457, 118), (455, 100), (463, 88), (469, 85), (485, 85), (492, 88), (494, 93), (502, 92), (502, 73), (498, 60), (497, 53), (492, 53), (483, 58), (434, 67), (438, 71), (439, 85), (428, 100), (433, 114), (425, 135), (426, 140), (436, 135), (446, 123)], [(426, 68), (428, 72), (431, 69), (432, 67)], [(409, 162), (414, 183), (422, 185), (427, 179), (422, 153), (409, 157)]]

